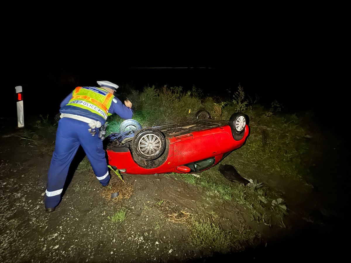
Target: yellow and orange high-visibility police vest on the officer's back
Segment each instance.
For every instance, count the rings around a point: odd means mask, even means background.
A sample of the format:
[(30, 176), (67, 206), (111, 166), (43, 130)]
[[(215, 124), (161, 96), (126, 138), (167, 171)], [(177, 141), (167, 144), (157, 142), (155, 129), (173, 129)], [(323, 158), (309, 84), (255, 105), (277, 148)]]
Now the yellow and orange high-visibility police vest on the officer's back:
[(72, 99), (69, 100), (67, 105), (90, 110), (106, 120), (107, 116), (112, 115), (108, 113), (108, 109), (113, 97), (113, 94), (101, 88), (77, 87), (73, 90)]

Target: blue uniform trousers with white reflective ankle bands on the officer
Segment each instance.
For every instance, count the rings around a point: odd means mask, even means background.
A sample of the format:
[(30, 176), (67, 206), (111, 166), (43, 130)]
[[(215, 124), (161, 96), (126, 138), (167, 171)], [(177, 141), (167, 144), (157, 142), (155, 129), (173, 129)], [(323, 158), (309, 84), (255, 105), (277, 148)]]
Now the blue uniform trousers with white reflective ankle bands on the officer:
[(98, 137), (99, 129), (97, 128), (97, 133), (92, 136), (88, 131), (89, 128), (88, 123), (79, 120), (67, 117), (59, 120), (55, 150), (48, 171), (45, 207), (54, 208), (60, 203), (69, 166), (80, 145), (102, 186), (106, 186), (110, 181), (105, 151), (102, 148), (102, 141)]

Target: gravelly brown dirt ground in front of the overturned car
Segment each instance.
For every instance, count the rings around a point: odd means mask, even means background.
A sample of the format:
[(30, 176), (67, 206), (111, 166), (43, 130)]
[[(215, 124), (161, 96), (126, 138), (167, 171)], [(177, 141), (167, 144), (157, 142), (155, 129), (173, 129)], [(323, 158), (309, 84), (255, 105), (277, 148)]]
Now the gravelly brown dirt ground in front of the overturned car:
[[(343, 255), (338, 242), (343, 235), (338, 233), (344, 224), (337, 210), (343, 202), (333, 207), (338, 201), (332, 203), (316, 186), (278, 176), (256, 179), (282, 193), (289, 208), (286, 228), (251, 222), (234, 201), (215, 200), (198, 187), (164, 174), (125, 175), (131, 195), (112, 202), (102, 196), (106, 188), (92, 170), (76, 171), (60, 205), (45, 213), (54, 139), (55, 130), (2, 126), (1, 262), (212, 262)], [(112, 222), (108, 216), (122, 207), (127, 208), (126, 219)], [(192, 215), (217, 215), (223, 228), (245, 223), (258, 235), (241, 252), (213, 253), (188, 243), (184, 222)]]

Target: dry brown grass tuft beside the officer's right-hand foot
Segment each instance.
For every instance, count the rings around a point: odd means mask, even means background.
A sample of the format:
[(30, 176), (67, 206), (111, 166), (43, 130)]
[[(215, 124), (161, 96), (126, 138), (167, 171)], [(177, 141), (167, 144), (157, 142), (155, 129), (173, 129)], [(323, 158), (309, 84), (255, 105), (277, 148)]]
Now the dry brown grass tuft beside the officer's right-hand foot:
[[(119, 193), (118, 196), (111, 199), (111, 194), (116, 192)], [(134, 188), (132, 183), (124, 183), (117, 176), (113, 176), (108, 186), (106, 186), (104, 190), (102, 190), (101, 195), (107, 201), (112, 201), (112, 203), (115, 203), (123, 199), (129, 199), (132, 196), (133, 192)]]

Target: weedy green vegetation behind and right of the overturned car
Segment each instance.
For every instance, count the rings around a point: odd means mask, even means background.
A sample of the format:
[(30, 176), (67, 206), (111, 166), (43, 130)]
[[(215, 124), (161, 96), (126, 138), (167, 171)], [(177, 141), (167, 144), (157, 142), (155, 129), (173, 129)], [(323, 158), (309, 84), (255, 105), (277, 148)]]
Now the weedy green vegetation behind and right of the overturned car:
[[(200, 109), (207, 110), (212, 119), (220, 120), (229, 120), (233, 113), (243, 112), (250, 118), (251, 130), (245, 146), (236, 151), (241, 160), (247, 160), (238, 168), (253, 164), (293, 178), (301, 178), (306, 172), (302, 164), (307, 148), (305, 130), (296, 115), (281, 113), (282, 106), (277, 101), (273, 101), (270, 108), (260, 106), (257, 104), (259, 98), (246, 98), (240, 85), (236, 92), (228, 90), (226, 101), (204, 97), (196, 87), (185, 91), (182, 87), (152, 86), (138, 92), (128, 86), (128, 90), (127, 97), (133, 102), (133, 119), (142, 127), (192, 119)], [(111, 134), (119, 131), (124, 120), (112, 115), (107, 121), (107, 134)]]

